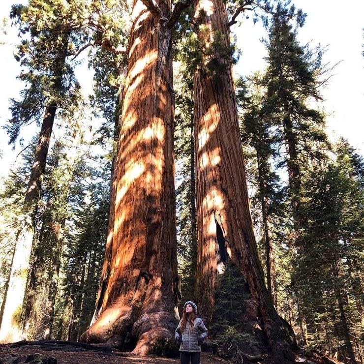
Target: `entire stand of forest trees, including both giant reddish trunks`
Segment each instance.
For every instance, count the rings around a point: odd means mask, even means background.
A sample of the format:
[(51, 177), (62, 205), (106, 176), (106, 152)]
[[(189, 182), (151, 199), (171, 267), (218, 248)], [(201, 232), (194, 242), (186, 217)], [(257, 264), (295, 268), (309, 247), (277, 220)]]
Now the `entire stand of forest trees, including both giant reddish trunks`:
[[(193, 300), (222, 357), (363, 362), (364, 159), (327, 127), (337, 63), (301, 44), (291, 1), (206, 6), (9, 9), (22, 89), (2, 127), (21, 152), (1, 176), (0, 342), (173, 356)], [(264, 68), (237, 74), (245, 22)]]

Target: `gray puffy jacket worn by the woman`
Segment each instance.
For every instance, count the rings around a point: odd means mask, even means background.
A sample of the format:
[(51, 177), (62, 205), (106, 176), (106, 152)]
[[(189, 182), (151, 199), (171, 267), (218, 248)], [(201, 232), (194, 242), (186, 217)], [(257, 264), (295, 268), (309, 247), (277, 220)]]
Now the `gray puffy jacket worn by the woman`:
[[(186, 327), (181, 333), (181, 321), (176, 329), (176, 340), (181, 342), (180, 351), (201, 351), (201, 343), (207, 337), (207, 329), (202, 320), (197, 317), (193, 322), (193, 330), (189, 327), (187, 320)], [(181, 341), (182, 339), (182, 341)], [(200, 344), (198, 343), (200, 341)]]

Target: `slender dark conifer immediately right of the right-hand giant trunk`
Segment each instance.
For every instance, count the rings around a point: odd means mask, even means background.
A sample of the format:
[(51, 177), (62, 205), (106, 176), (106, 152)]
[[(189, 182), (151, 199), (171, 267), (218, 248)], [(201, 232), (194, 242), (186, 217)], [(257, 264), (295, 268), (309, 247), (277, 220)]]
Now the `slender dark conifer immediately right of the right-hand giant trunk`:
[[(242, 143), (245, 146), (245, 165), (251, 172), (251, 183), (256, 191), (252, 196), (253, 220), (256, 226), (261, 226), (261, 243), (264, 250), (267, 287), (273, 302), (278, 308), (276, 259), (279, 250), (282, 252), (279, 231), (286, 216), (284, 213), (282, 183), (279, 176), (272, 170), (271, 161), (277, 156), (275, 150), (275, 135), (270, 128), (270, 120), (261, 114), (261, 90), (248, 93), (247, 80), (240, 79), (237, 83), (238, 106), (242, 110)], [(258, 76), (251, 79), (253, 85), (258, 85)], [(250, 151), (253, 150), (253, 151)], [(248, 159), (247, 159), (248, 157)], [(279, 223), (276, 223), (279, 221)]]

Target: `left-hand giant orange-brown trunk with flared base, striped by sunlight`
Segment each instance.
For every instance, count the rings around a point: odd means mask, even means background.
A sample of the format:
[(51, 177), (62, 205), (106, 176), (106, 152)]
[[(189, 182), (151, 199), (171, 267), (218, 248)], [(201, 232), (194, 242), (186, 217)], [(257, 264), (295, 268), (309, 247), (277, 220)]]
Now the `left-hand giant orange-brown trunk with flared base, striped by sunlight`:
[(142, 355), (173, 343), (178, 320), (170, 2), (148, 5), (134, 3), (114, 232), (94, 322), (81, 337), (136, 345)]

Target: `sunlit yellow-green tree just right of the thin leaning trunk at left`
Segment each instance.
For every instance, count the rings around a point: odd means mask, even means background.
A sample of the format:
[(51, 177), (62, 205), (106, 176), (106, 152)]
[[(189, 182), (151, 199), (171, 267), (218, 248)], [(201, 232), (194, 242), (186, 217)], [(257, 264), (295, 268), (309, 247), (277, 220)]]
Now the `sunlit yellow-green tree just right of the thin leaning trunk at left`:
[(27, 339), (50, 338), (52, 335), (61, 252), (69, 216), (67, 202), (74, 172), (73, 158), (64, 158), (65, 146), (61, 141), (56, 141), (50, 154), (42, 198), (34, 220), (30, 272), (21, 320)]

